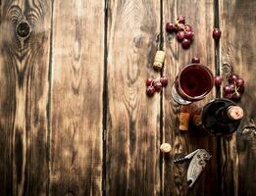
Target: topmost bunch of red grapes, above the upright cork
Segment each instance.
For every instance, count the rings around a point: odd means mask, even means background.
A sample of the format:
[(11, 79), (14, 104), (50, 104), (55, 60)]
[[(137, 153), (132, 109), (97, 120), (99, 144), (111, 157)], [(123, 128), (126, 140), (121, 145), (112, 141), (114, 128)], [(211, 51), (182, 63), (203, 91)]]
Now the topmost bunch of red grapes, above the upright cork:
[(184, 16), (179, 16), (175, 23), (167, 23), (166, 30), (169, 33), (176, 33), (177, 40), (181, 43), (182, 48), (190, 47), (194, 32), (191, 25), (185, 25)]

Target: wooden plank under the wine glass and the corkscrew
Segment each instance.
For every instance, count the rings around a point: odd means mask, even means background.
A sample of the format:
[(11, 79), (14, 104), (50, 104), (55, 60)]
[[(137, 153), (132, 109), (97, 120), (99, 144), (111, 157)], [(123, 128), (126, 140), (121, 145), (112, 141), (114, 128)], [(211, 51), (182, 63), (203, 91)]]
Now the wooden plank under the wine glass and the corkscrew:
[[(165, 89), (164, 104), (164, 142), (173, 146), (172, 155), (164, 159), (164, 195), (217, 195), (217, 151), (216, 138), (189, 127), (187, 132), (179, 131), (179, 105), (172, 98), (172, 84), (179, 70), (190, 63), (193, 56), (198, 56), (201, 63), (215, 73), (214, 70), (214, 2), (210, 0), (166, 0), (163, 1), (163, 25), (174, 22), (179, 15), (186, 17), (186, 24), (192, 25), (195, 33), (194, 41), (188, 50), (183, 50), (175, 37), (167, 36), (167, 58), (164, 74), (171, 78), (171, 85)], [(169, 41), (168, 41), (169, 40)], [(214, 99), (214, 91), (206, 99), (197, 102), (203, 106)], [(174, 159), (186, 155), (198, 148), (206, 149), (213, 157), (192, 189), (188, 189), (186, 172), (188, 165), (175, 165)]]

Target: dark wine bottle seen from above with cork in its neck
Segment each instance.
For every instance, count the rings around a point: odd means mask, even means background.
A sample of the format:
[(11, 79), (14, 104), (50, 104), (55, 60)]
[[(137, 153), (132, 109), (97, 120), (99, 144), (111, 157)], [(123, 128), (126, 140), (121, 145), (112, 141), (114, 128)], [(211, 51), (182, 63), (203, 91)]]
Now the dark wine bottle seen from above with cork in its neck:
[(233, 133), (242, 118), (242, 108), (228, 99), (215, 99), (206, 104), (202, 111), (204, 127), (215, 135)]

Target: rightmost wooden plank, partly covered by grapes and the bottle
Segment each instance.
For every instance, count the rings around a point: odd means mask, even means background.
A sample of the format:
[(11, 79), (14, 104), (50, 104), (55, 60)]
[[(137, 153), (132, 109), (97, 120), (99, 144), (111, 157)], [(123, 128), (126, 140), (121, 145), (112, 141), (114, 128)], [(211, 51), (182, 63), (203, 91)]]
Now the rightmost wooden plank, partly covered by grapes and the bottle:
[[(256, 2), (253, 0), (221, 0), (221, 62), (223, 70), (232, 67), (245, 79), (245, 93), (240, 105), (245, 118), (236, 135), (223, 141), (223, 194), (255, 195), (256, 126)], [(226, 72), (223, 72), (223, 76)]]

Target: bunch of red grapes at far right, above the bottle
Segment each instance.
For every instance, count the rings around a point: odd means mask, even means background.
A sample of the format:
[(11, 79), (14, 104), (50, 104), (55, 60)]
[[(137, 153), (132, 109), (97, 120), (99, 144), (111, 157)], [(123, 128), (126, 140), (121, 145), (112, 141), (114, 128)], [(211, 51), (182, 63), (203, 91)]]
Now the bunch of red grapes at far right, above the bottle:
[(229, 84), (224, 86), (224, 97), (232, 101), (239, 101), (244, 92), (244, 80), (237, 74), (231, 73), (229, 76)]

